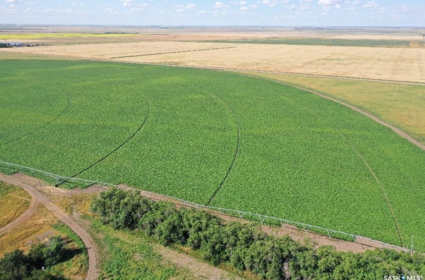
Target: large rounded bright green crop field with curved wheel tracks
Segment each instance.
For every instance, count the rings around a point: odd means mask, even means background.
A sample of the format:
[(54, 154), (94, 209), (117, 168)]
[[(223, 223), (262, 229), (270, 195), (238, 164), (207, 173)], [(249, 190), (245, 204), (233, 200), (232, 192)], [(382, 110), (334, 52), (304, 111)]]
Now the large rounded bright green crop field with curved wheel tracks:
[(2, 60), (0, 119), (2, 161), (396, 245), (413, 235), (425, 251), (425, 152), (300, 89), (202, 69)]

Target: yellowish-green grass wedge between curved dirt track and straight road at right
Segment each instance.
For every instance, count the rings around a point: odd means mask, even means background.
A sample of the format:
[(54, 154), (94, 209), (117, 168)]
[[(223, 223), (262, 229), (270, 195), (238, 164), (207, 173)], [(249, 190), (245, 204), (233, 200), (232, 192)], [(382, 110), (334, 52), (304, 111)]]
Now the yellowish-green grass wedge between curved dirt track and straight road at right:
[(293, 74), (239, 73), (299, 85), (362, 108), (425, 143), (425, 86)]

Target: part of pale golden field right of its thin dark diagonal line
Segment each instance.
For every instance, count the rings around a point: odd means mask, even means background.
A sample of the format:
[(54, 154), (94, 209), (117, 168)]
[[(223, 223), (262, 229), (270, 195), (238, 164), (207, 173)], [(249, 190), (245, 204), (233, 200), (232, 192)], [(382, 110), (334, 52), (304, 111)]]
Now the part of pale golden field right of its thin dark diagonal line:
[(120, 60), (425, 82), (425, 49), (239, 44)]

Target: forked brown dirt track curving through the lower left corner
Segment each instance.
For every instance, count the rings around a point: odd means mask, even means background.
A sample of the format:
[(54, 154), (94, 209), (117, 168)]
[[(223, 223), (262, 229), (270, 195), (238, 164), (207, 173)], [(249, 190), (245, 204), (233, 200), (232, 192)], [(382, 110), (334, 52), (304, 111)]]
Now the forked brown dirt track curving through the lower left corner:
[(48, 199), (47, 196), (45, 196), (43, 193), (38, 191), (35, 187), (29, 184), (23, 183), (20, 180), (13, 178), (12, 176), (7, 176), (3, 174), (0, 174), (0, 180), (22, 187), (32, 197), (32, 201), (29, 208), (23, 214), (21, 214), (18, 218), (8, 223), (4, 227), (0, 228), (0, 235), (3, 233), (6, 233), (10, 229), (12, 229), (14, 226), (17, 226), (21, 222), (25, 221), (28, 217), (30, 217), (32, 213), (34, 213), (36, 209), (36, 205), (38, 203), (43, 204), (49, 211), (54, 213), (64, 224), (69, 226), (82, 239), (88, 252), (88, 270), (87, 270), (87, 275), (85, 279), (86, 280), (97, 279), (99, 275), (97, 270), (98, 253), (97, 253), (96, 246), (93, 240), (91, 239), (90, 235), (87, 233), (87, 231), (83, 229), (79, 224), (77, 224), (74, 219), (72, 219), (69, 215), (63, 212), (59, 207), (53, 204)]

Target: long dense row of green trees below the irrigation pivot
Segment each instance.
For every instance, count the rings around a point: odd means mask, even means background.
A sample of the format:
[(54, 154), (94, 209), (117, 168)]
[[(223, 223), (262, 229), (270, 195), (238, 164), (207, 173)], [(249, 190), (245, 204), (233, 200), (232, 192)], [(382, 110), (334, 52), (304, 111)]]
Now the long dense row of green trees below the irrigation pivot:
[(137, 192), (111, 188), (92, 200), (91, 211), (115, 229), (142, 230), (162, 244), (199, 250), (214, 265), (227, 263), (264, 279), (383, 279), (425, 275), (425, 257), (383, 249), (337, 252), (332, 246), (301, 244), (265, 234), (258, 225), (224, 223), (203, 210), (154, 202)]

